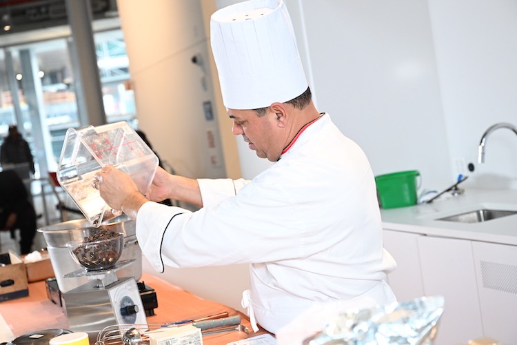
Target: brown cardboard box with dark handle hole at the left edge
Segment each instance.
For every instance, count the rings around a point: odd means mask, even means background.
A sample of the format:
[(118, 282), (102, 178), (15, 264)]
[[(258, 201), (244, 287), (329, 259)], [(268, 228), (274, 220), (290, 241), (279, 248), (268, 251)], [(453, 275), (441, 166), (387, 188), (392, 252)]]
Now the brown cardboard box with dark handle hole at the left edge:
[(0, 302), (27, 297), (27, 270), (21, 257), (9, 250), (0, 254)]

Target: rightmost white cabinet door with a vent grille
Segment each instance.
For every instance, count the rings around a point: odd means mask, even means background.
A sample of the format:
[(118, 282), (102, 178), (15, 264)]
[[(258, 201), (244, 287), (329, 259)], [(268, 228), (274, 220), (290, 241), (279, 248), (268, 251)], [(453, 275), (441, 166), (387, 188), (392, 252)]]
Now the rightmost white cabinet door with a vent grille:
[(486, 337), (517, 344), (517, 246), (473, 242)]

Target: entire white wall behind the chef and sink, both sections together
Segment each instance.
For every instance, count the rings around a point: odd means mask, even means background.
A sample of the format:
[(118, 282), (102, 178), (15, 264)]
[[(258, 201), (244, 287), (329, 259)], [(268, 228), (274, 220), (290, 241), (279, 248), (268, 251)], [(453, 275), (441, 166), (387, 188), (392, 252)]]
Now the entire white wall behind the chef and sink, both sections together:
[[(222, 1), (232, 3), (235, 1)], [(420, 170), (423, 188), (517, 188), (517, 2), (286, 0), (320, 111), (376, 175)], [(239, 144), (243, 174), (263, 162)], [(474, 173), (467, 164), (474, 163)]]

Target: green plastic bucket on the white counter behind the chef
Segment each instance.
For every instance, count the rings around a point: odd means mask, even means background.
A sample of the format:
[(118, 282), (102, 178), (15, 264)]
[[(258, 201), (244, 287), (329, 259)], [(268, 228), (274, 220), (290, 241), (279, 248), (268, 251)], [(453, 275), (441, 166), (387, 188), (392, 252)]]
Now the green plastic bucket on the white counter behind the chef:
[(407, 170), (375, 177), (377, 197), (381, 208), (396, 208), (416, 204), (417, 177), (420, 172)]

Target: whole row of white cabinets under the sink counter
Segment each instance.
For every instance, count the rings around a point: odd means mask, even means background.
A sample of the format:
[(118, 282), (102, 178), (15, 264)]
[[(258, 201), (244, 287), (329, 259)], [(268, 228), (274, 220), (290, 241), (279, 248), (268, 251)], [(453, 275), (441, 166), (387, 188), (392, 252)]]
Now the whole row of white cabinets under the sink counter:
[(517, 344), (517, 246), (384, 230), (397, 268), (388, 282), (401, 302), (443, 295), (436, 345), (490, 337)]

